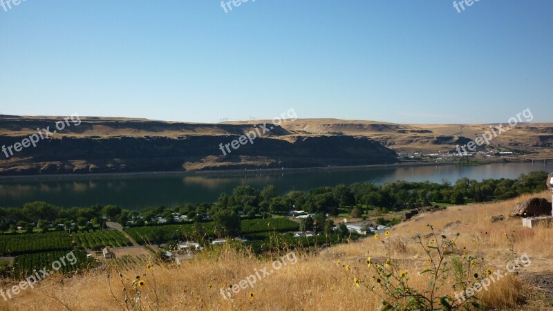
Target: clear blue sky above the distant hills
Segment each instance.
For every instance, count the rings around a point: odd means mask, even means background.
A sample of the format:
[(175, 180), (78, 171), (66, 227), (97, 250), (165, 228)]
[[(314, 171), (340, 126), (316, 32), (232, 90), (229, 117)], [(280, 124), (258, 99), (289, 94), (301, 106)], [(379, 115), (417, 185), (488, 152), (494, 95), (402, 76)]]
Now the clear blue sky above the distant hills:
[(0, 112), (483, 123), (529, 108), (553, 122), (553, 1), (465, 8), (26, 0), (0, 6)]

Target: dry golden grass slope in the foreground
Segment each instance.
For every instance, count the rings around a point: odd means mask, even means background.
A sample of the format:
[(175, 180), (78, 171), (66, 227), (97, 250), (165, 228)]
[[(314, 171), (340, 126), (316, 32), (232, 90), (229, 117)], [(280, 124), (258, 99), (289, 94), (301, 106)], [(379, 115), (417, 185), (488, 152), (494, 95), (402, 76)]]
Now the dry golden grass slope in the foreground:
[[(537, 196), (548, 198), (549, 194), (543, 192)], [(445, 241), (460, 234), (453, 254), (448, 256), (463, 256), (464, 252), (474, 256), (470, 274), (482, 275), (488, 268), (494, 273), (506, 273), (508, 258), (529, 256), (527, 267), (519, 267), (516, 272), (492, 282), (487, 291), (477, 293), (489, 310), (553, 310), (553, 248), (547, 244), (552, 241), (553, 229), (523, 228), (520, 219), (509, 217), (491, 223), (491, 216), (507, 216), (516, 202), (526, 198), (529, 196), (505, 202), (453, 206), (416, 216), (379, 239), (368, 237), (310, 254), (297, 251), (295, 264), (288, 261), (280, 270), (258, 279), (254, 288), (234, 294), (232, 300), (224, 299), (220, 288), (236, 284), (265, 266), (271, 267), (272, 261), (223, 248), (205, 252), (180, 265), (154, 265), (151, 271), (147, 271), (147, 267), (131, 268), (121, 272), (122, 281), (119, 272), (109, 268), (68, 279), (53, 276), (10, 301), (0, 299), (0, 308), (121, 310), (118, 301), (124, 307), (123, 288), (132, 298), (135, 290), (131, 281), (140, 276), (145, 281), (139, 288), (144, 310), (150, 310), (150, 306), (152, 310), (375, 310), (380, 303), (378, 295), (383, 292), (372, 278), (375, 270), (367, 267), (368, 256), (373, 263), (384, 263), (386, 258), (391, 258), (391, 265), (397, 265), (397, 270), (406, 270), (405, 277), (413, 288), (426, 289), (430, 275), (419, 272), (430, 263), (413, 236), (420, 234), (424, 243), (435, 243), (431, 237), (424, 238), (430, 223), (440, 235), (446, 236)], [(447, 276), (446, 285), (439, 292), (453, 295), (450, 286), (453, 277)], [(359, 281), (359, 287), (354, 278)], [(365, 287), (373, 285), (376, 285), (374, 293)]]

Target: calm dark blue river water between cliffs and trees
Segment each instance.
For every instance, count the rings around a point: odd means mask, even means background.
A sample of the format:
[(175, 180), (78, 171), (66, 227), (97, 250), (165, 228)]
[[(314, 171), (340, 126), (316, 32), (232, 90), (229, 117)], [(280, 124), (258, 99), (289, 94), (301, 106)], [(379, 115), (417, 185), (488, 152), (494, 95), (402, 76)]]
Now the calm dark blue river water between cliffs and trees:
[[(230, 193), (238, 185), (261, 189), (274, 185), (280, 194), (320, 186), (354, 182), (382, 184), (394, 180), (454, 182), (459, 178), (517, 178), (531, 171), (553, 171), (553, 164), (496, 163), (476, 167), (430, 166), (386, 167), (329, 171), (286, 171), (257, 175), (236, 173), (216, 176), (129, 176), (91, 177), (87, 179), (24, 180), (0, 182), (0, 206), (19, 207), (25, 202), (44, 200), (62, 207), (87, 207), (113, 204), (126, 209), (185, 202), (210, 202), (221, 192)], [(545, 180), (544, 180), (545, 182)]]

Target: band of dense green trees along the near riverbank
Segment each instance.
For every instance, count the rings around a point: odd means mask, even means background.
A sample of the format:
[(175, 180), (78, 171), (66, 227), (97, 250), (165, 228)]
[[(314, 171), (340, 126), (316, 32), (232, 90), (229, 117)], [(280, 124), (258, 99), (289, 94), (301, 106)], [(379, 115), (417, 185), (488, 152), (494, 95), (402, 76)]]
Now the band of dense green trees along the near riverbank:
[(102, 226), (105, 220), (127, 225), (145, 222), (155, 223), (156, 217), (163, 217), (167, 223), (174, 222), (174, 216), (186, 215), (189, 221), (219, 220), (236, 221), (239, 216), (254, 218), (270, 214), (287, 214), (292, 210), (304, 210), (313, 214), (337, 215), (340, 211), (366, 209), (399, 210), (431, 205), (434, 202), (464, 204), (504, 200), (520, 194), (546, 189), (545, 171), (521, 175), (517, 179), (487, 179), (480, 182), (461, 178), (454, 184), (447, 181), (435, 182), (388, 182), (374, 185), (371, 182), (350, 186), (318, 187), (309, 191), (290, 191), (279, 195), (273, 185), (263, 189), (238, 186), (232, 194), (223, 193), (216, 202), (187, 203), (174, 208), (164, 206), (129, 211), (114, 205), (95, 205), (62, 209), (46, 202), (30, 202), (21, 207), (0, 207), (0, 229), (10, 226), (51, 227), (70, 225), (78, 227)]

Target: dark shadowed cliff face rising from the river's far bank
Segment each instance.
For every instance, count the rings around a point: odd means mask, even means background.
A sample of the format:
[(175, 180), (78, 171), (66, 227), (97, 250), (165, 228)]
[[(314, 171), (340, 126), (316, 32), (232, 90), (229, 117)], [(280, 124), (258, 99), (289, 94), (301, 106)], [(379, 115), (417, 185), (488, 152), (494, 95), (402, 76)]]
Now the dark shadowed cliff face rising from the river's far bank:
[[(82, 125), (79, 126), (81, 131), (90, 126)], [(231, 152), (225, 150), (226, 155), (223, 155), (221, 144), (238, 140), (243, 133), (243, 129), (236, 127), (230, 130), (234, 133), (178, 137), (58, 136), (41, 140), (37, 147), (25, 148), (8, 159), (0, 153), (0, 175), (297, 168), (397, 162), (395, 151), (368, 138), (290, 135), (283, 129), (256, 138), (253, 144), (247, 142), (238, 149), (230, 147)], [(0, 135), (0, 147), (11, 146), (27, 137)]]

